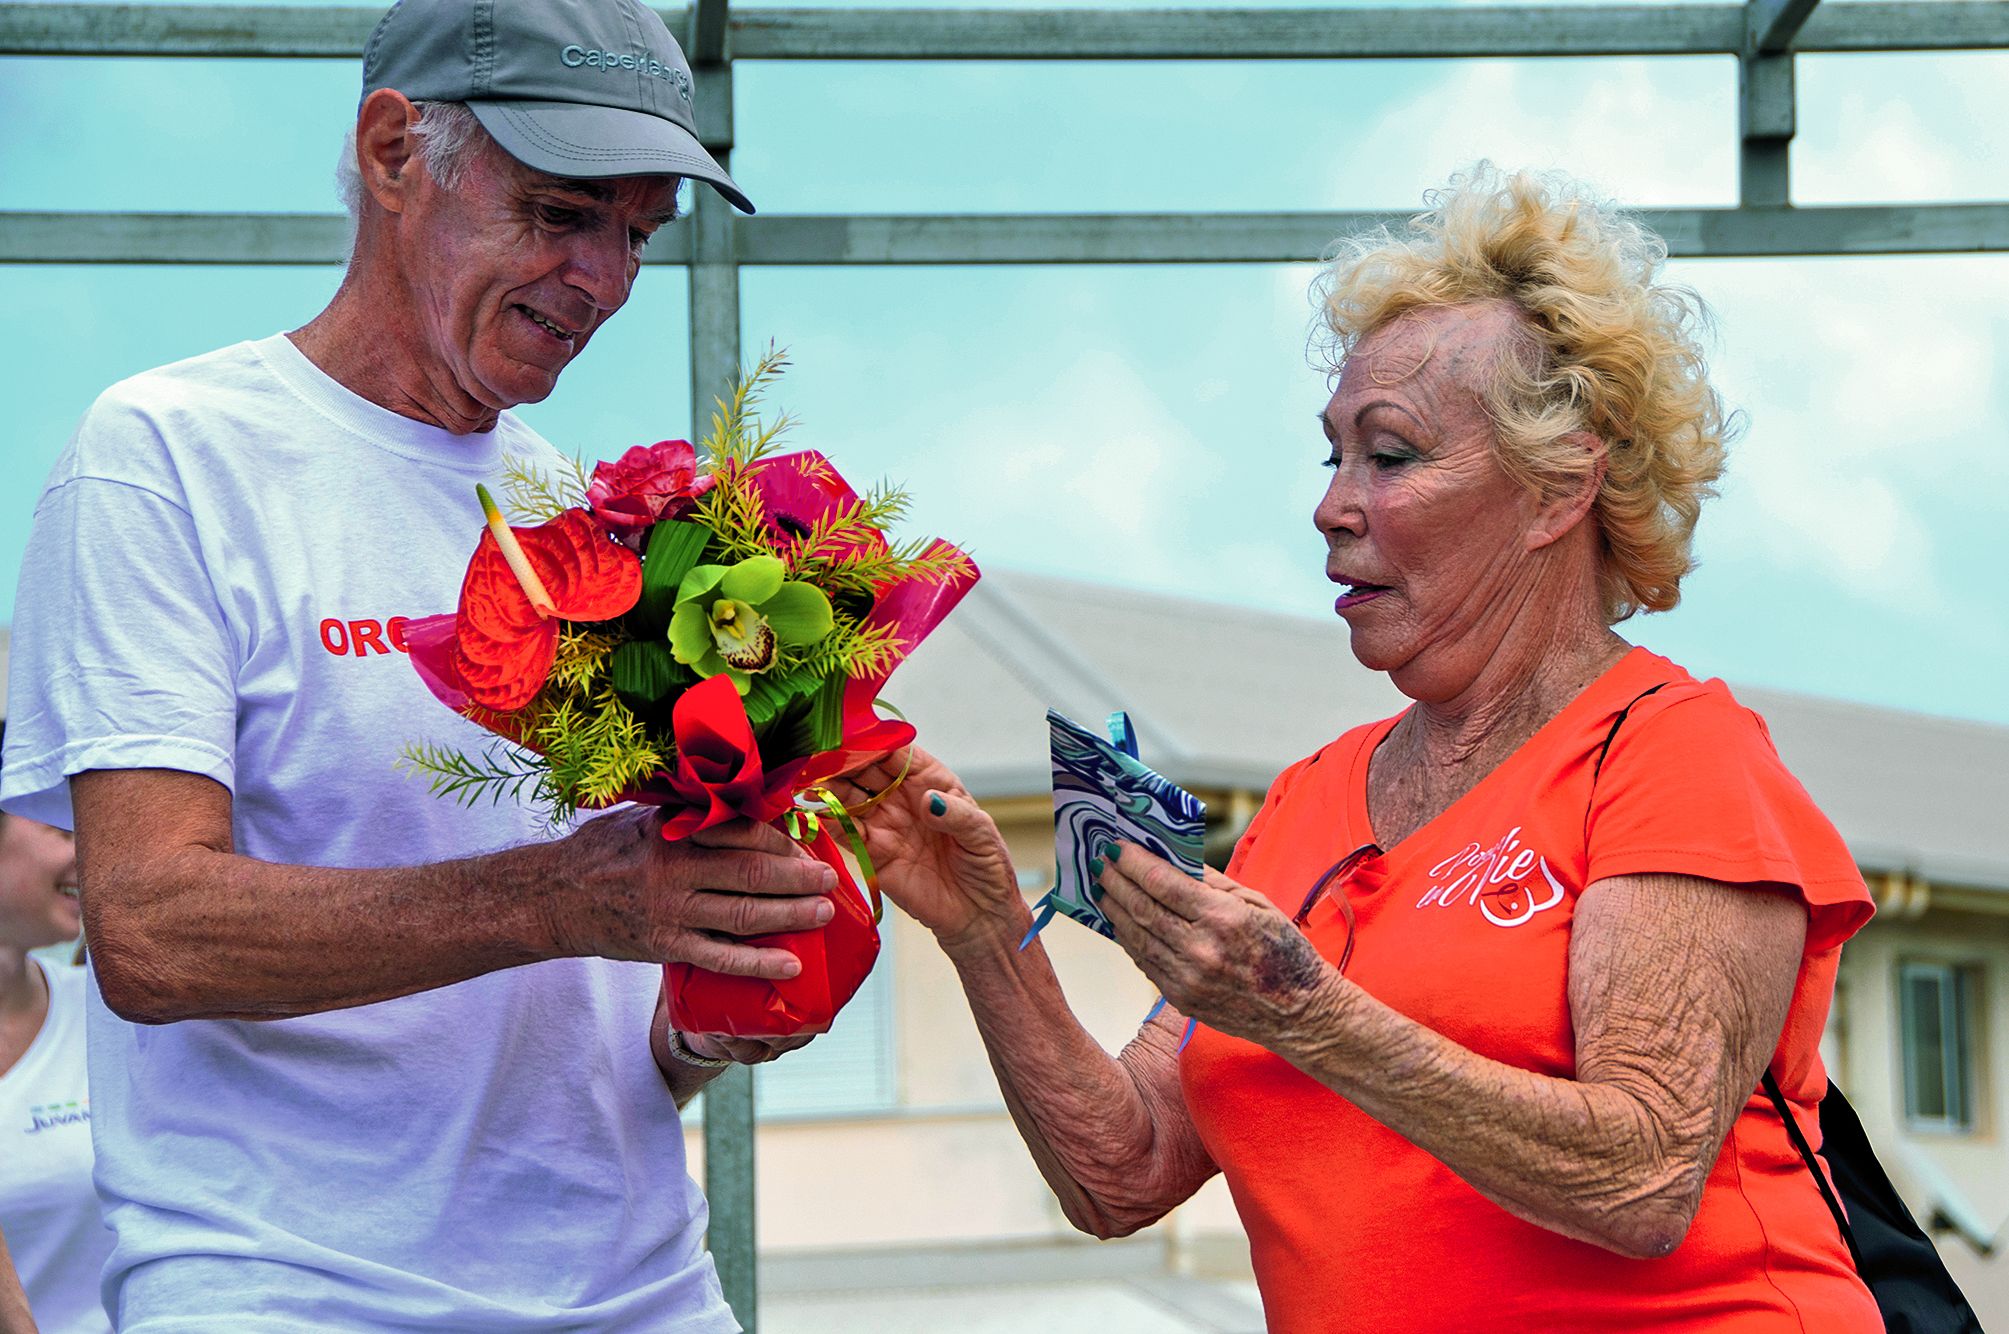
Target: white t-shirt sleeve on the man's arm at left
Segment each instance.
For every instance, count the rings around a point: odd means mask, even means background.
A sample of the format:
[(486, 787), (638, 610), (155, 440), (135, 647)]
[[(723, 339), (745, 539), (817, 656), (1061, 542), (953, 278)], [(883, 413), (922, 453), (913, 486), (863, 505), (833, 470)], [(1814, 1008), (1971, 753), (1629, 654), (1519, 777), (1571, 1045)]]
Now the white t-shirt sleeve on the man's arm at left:
[(70, 828), (68, 777), (181, 769), (231, 786), (235, 647), (145, 414), (98, 402), (22, 557), (0, 806)]

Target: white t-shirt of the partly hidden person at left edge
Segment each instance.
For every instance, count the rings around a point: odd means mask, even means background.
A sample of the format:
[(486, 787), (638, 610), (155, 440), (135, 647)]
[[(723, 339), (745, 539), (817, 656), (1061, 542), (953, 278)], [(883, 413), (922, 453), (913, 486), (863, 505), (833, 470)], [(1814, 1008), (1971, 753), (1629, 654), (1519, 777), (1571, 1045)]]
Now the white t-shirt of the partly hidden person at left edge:
[[(30, 968), (42, 968), (34, 958)], [(90, 1185), (84, 970), (42, 968), (48, 1019), (0, 1075), (0, 1234), (42, 1334), (108, 1334), (98, 1272), (113, 1234)]]

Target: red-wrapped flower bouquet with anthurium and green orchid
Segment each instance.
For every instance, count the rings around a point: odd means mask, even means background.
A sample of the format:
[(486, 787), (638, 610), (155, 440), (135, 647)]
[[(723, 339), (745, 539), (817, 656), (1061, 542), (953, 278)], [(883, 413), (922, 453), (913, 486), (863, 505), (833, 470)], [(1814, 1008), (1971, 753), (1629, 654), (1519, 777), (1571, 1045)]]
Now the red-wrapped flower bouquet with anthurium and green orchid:
[(822, 454), (775, 452), (790, 420), (753, 408), (784, 366), (769, 352), (721, 400), (703, 458), (665, 440), (556, 480), (510, 462), (502, 490), (526, 526), (482, 488), (460, 607), (406, 625), (432, 693), (498, 735), (478, 755), (406, 747), (436, 794), (526, 800), (554, 824), (645, 802), (667, 840), (749, 818), (836, 868), (828, 926), (755, 940), (794, 952), (794, 978), (665, 964), (687, 1033), (820, 1033), (872, 970), (870, 858), (824, 784), (914, 739), (878, 715), (878, 691), (976, 583), (956, 546), (888, 538), (902, 490), (860, 496)]

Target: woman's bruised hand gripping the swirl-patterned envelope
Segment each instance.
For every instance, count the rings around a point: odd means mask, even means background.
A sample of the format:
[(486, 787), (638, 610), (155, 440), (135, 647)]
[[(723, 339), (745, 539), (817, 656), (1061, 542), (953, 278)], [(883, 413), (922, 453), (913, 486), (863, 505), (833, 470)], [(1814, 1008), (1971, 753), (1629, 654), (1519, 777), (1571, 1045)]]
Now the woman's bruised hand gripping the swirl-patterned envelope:
[(1193, 880), (1137, 844), (1101, 860), (1117, 944), (1181, 1015), (1272, 1051), (1322, 1023), (1338, 968), (1268, 898), (1211, 866)]

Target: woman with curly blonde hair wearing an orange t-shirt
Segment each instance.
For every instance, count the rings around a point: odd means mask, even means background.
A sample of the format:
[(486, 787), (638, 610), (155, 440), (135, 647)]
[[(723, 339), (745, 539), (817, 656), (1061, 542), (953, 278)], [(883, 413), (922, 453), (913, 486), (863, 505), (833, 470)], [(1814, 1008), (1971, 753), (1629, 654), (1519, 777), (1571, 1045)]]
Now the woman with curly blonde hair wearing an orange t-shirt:
[(1169, 1007), (1095, 1045), (926, 755), (882, 884), (1069, 1219), (1127, 1234), (1221, 1171), (1272, 1330), (1880, 1330), (1758, 1091), (1818, 1141), (1868, 896), (1764, 723), (1611, 629), (1676, 605), (1720, 472), (1700, 301), (1567, 181), (1432, 203), (1322, 281), (1314, 520), (1354, 657), (1414, 703), (1286, 769), (1225, 876), (1105, 850)]

